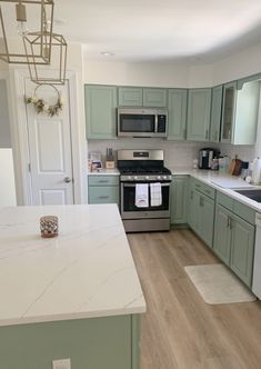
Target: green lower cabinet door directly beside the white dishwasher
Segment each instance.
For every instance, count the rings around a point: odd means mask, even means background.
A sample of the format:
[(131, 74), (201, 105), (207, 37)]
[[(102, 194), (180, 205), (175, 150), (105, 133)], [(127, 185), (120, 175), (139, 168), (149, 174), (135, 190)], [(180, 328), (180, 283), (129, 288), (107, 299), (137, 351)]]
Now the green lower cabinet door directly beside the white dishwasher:
[(230, 267), (249, 287), (252, 285), (254, 227), (233, 216)]

